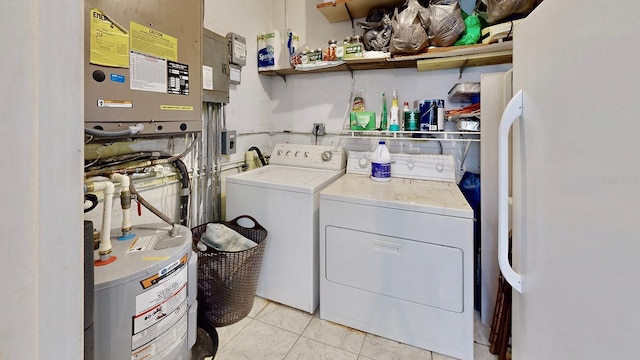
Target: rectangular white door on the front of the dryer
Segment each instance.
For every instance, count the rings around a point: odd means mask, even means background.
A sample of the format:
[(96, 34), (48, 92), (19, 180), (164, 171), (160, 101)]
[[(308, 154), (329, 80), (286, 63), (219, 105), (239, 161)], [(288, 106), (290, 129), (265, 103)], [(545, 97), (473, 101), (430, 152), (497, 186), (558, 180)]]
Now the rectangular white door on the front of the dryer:
[(326, 228), (326, 278), (460, 313), (462, 250), (334, 226)]

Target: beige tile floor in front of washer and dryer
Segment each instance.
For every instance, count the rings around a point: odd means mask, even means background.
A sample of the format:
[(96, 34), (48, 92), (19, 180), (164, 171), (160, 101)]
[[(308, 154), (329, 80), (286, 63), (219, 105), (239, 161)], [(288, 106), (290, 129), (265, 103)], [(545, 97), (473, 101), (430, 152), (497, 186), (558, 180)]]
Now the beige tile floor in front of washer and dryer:
[[(243, 320), (217, 329), (216, 360), (451, 360), (256, 297)], [(475, 360), (494, 360), (490, 329), (476, 319)]]

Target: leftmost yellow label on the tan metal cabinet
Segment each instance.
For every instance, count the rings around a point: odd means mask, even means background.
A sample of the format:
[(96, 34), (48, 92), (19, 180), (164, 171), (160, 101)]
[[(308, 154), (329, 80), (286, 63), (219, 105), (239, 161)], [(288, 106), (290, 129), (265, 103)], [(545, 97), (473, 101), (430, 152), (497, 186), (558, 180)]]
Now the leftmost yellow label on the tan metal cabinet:
[(92, 64), (129, 67), (129, 34), (102, 10), (89, 10), (89, 61)]

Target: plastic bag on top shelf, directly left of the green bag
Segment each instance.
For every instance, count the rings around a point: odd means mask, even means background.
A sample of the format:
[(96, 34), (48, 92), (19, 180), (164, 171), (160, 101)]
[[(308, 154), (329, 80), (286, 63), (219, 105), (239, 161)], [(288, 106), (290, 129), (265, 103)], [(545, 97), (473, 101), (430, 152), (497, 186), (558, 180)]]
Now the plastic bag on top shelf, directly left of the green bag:
[(431, 0), (429, 13), (429, 43), (453, 45), (466, 28), (458, 0)]

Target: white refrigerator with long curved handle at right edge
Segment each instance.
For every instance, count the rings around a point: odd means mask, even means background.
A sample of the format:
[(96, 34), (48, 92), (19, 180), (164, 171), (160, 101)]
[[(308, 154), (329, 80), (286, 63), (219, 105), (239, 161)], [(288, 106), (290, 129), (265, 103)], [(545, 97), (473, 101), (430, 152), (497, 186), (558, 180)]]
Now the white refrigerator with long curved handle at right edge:
[(498, 145), (514, 360), (640, 359), (638, 16), (637, 0), (545, 0), (514, 32)]

